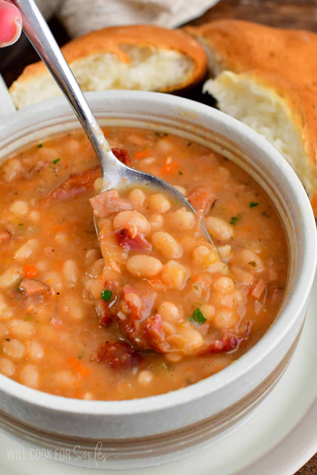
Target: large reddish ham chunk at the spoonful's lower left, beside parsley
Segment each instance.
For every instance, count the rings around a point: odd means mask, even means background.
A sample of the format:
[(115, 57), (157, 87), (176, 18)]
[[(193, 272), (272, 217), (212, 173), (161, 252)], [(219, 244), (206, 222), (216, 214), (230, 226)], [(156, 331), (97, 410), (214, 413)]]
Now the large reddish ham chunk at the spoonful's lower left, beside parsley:
[[(134, 298), (129, 294), (133, 293)], [(156, 294), (144, 297), (130, 285), (121, 291), (117, 313), (117, 323), (125, 338), (144, 350), (165, 353), (169, 344), (165, 340), (162, 328), (162, 317), (151, 314)], [(124, 318), (121, 318), (121, 314)]]

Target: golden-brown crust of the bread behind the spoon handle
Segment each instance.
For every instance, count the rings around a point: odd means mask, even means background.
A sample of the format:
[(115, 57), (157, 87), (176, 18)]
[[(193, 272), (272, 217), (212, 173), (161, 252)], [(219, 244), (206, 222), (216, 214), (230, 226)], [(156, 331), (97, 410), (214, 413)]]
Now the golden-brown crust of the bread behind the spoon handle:
[[(112, 53), (120, 61), (129, 63), (129, 57), (120, 48), (121, 44), (174, 50), (192, 59), (194, 70), (186, 82), (175, 85), (176, 87), (174, 85), (166, 87), (162, 90), (164, 92), (183, 89), (195, 84), (201, 81), (206, 74), (206, 54), (198, 41), (181, 30), (169, 30), (153, 25), (103, 28), (69, 41), (61, 50), (70, 66), (74, 61), (103, 53)], [(14, 90), (15, 84), (27, 83), (38, 75), (46, 74), (48, 74), (48, 71), (42, 61), (31, 64), (24, 69), (17, 81), (10, 87), (10, 92)]]

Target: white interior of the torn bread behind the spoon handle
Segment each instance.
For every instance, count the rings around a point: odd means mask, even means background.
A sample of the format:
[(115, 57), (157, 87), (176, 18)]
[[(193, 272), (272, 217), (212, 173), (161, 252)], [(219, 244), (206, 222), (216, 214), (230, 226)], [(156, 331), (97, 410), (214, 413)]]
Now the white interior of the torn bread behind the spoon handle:
[[(158, 91), (185, 83), (194, 70), (190, 57), (155, 47), (119, 45), (130, 59), (125, 63), (112, 53), (100, 53), (74, 61), (69, 66), (83, 91), (136, 89)], [(17, 107), (56, 97), (61, 92), (48, 73), (17, 81), (11, 90)]]

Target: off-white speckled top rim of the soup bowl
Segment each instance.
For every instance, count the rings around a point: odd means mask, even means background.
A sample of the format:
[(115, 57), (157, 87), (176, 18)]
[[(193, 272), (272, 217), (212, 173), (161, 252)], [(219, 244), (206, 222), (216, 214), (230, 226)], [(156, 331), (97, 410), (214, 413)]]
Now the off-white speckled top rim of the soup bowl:
[[(168, 103), (169, 106), (172, 105), (176, 109), (185, 109), (186, 112), (192, 114), (192, 116), (197, 116), (198, 114), (208, 116), (211, 123), (217, 122), (223, 125), (224, 130), (226, 130), (225, 135), (228, 137), (230, 137), (231, 134), (234, 134), (240, 136), (241, 139), (247, 139), (253, 146), (259, 149), (259, 152), (266, 155), (270, 161), (274, 162), (275, 165), (281, 169), (285, 180), (288, 181), (288, 185), (290, 185), (289, 190), (291, 190), (293, 197), (299, 203), (301, 208), (302, 228), (299, 232), (302, 236), (305, 236), (306, 242), (304, 255), (307, 257), (309, 251), (309, 259), (303, 259), (303, 262), (298, 263), (301, 279), (295, 289), (293, 284), (291, 284), (292, 292), (289, 293), (287, 304), (279, 314), (277, 321), (261, 337), (259, 342), (257, 342), (256, 345), (244, 355), (240, 356), (234, 365), (229, 365), (229, 367), (220, 372), (200, 380), (191, 386), (139, 399), (112, 401), (83, 400), (66, 398), (31, 389), (0, 374), (0, 391), (3, 391), (11, 397), (17, 398), (27, 404), (32, 404), (48, 410), (82, 415), (102, 414), (114, 416), (148, 413), (201, 399), (207, 394), (211, 394), (225, 386), (229, 386), (234, 380), (243, 376), (247, 371), (250, 371), (252, 367), (256, 366), (260, 361), (266, 358), (269, 352), (271, 352), (271, 350), (288, 333), (298, 315), (303, 310), (313, 283), (317, 265), (317, 232), (313, 211), (306, 191), (290, 165), (282, 155), (266, 141), (266, 139), (244, 123), (241, 123), (230, 115), (208, 105), (200, 104), (179, 96), (144, 91), (97, 91), (85, 93), (85, 96), (88, 102), (98, 100), (98, 103), (102, 101), (102, 104), (109, 104), (110, 107), (111, 104), (118, 101), (134, 101), (135, 103), (138, 103), (138, 105), (142, 105), (142, 103), (150, 103), (154, 107), (155, 104), (162, 104), (162, 102), (166, 104)], [(49, 117), (49, 114), (52, 111), (65, 108), (66, 105), (69, 107), (64, 97), (58, 97), (26, 106), (5, 117), (5, 123), (0, 125), (0, 134), (3, 135), (6, 130), (9, 131), (12, 129), (18, 131), (21, 128), (21, 122), (29, 121), (31, 116), (38, 114), (40, 111), (45, 111)], [(91, 105), (92, 108), (94, 108), (94, 104)], [(212, 129), (212, 127), (207, 128)], [(314, 223), (314, 226), (311, 225), (312, 223)], [(303, 242), (304, 239), (302, 239), (302, 242), (299, 240), (299, 247), (304, 246)], [(294, 304), (296, 304), (295, 312), (293, 310)]]

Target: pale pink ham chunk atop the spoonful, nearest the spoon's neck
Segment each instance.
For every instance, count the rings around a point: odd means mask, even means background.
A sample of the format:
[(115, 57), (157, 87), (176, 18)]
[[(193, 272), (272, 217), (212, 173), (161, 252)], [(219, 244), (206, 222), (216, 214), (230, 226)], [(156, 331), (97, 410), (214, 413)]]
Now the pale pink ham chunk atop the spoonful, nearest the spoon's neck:
[(89, 201), (97, 218), (106, 218), (111, 213), (133, 209), (131, 201), (121, 198), (117, 190), (105, 191)]

